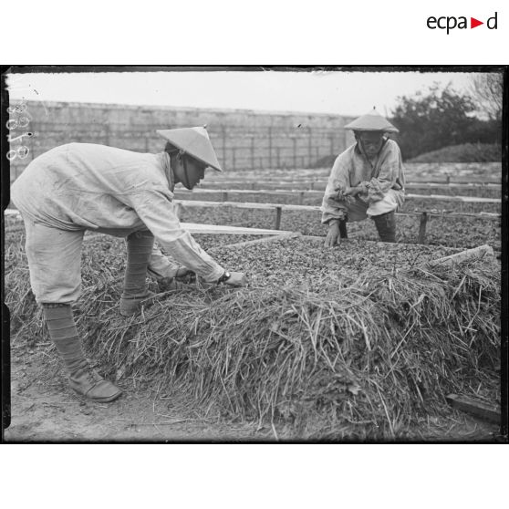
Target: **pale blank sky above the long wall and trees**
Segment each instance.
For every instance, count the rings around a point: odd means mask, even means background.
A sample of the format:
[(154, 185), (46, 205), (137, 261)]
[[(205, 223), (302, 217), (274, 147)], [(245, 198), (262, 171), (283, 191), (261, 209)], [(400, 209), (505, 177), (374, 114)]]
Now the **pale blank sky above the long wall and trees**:
[(11, 99), (213, 109), (390, 115), (398, 96), (433, 82), (468, 88), (464, 72), (165, 71), (27, 73), (8, 76)]

